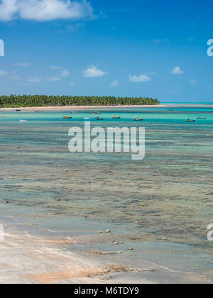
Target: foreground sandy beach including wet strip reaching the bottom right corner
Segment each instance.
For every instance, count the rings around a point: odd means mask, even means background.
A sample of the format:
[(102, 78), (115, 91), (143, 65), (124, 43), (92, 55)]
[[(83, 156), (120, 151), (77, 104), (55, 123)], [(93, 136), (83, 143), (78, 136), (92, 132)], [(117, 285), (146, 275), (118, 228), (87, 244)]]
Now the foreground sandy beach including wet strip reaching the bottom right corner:
[(175, 271), (146, 260), (130, 267), (122, 264), (116, 255), (110, 261), (86, 258), (66, 250), (72, 239), (50, 241), (4, 226), (4, 242), (0, 242), (0, 284), (209, 283), (208, 277), (199, 272)]

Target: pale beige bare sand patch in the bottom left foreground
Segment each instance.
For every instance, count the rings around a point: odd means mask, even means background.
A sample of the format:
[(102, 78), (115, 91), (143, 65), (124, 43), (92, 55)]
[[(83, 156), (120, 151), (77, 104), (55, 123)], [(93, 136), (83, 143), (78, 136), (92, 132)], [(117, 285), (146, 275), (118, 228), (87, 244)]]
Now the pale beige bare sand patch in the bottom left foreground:
[(6, 233), (0, 243), (0, 283), (102, 283), (103, 275), (131, 271), (119, 265), (89, 262), (65, 252), (60, 245), (45, 242), (28, 234)]

